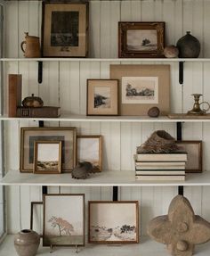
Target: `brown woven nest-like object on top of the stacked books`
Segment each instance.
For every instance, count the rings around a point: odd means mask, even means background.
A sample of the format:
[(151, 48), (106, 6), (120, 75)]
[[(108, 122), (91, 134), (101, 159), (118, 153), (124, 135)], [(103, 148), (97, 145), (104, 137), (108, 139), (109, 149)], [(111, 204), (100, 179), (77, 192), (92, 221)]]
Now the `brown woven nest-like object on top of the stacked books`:
[(171, 153), (178, 149), (173, 136), (165, 130), (157, 130), (145, 143), (137, 147), (137, 153)]

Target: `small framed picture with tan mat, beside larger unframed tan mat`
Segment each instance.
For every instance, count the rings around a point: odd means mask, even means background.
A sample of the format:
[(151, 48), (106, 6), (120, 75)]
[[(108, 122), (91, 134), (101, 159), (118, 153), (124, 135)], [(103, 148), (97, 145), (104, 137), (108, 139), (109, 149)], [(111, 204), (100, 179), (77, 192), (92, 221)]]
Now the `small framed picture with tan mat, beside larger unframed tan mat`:
[(87, 80), (87, 115), (118, 115), (118, 80)]

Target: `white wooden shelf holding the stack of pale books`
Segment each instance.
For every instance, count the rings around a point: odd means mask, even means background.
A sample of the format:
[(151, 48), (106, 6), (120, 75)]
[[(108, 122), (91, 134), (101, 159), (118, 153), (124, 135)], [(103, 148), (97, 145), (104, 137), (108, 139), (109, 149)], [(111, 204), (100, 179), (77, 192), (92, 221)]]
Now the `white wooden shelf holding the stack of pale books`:
[(186, 174), (185, 181), (136, 181), (134, 170), (103, 170), (86, 179), (70, 173), (44, 175), (9, 170), (0, 186), (210, 186), (210, 171)]

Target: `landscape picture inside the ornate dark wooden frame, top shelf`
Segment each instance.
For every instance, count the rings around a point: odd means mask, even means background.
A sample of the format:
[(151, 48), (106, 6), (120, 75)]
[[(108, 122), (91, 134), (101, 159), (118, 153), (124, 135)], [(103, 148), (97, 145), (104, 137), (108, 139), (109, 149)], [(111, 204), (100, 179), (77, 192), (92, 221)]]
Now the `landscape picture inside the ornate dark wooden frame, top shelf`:
[(157, 38), (157, 30), (127, 30), (127, 50), (156, 51)]

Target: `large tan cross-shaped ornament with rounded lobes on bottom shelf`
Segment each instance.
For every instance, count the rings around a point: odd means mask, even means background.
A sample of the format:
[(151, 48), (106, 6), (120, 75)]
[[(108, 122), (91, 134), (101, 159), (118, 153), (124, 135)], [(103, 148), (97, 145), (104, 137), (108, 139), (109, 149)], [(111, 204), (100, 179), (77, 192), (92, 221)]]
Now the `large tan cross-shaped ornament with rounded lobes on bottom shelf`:
[(210, 223), (195, 215), (187, 198), (174, 197), (168, 215), (152, 219), (148, 225), (149, 236), (159, 243), (167, 244), (174, 256), (191, 256), (195, 244), (210, 240)]

